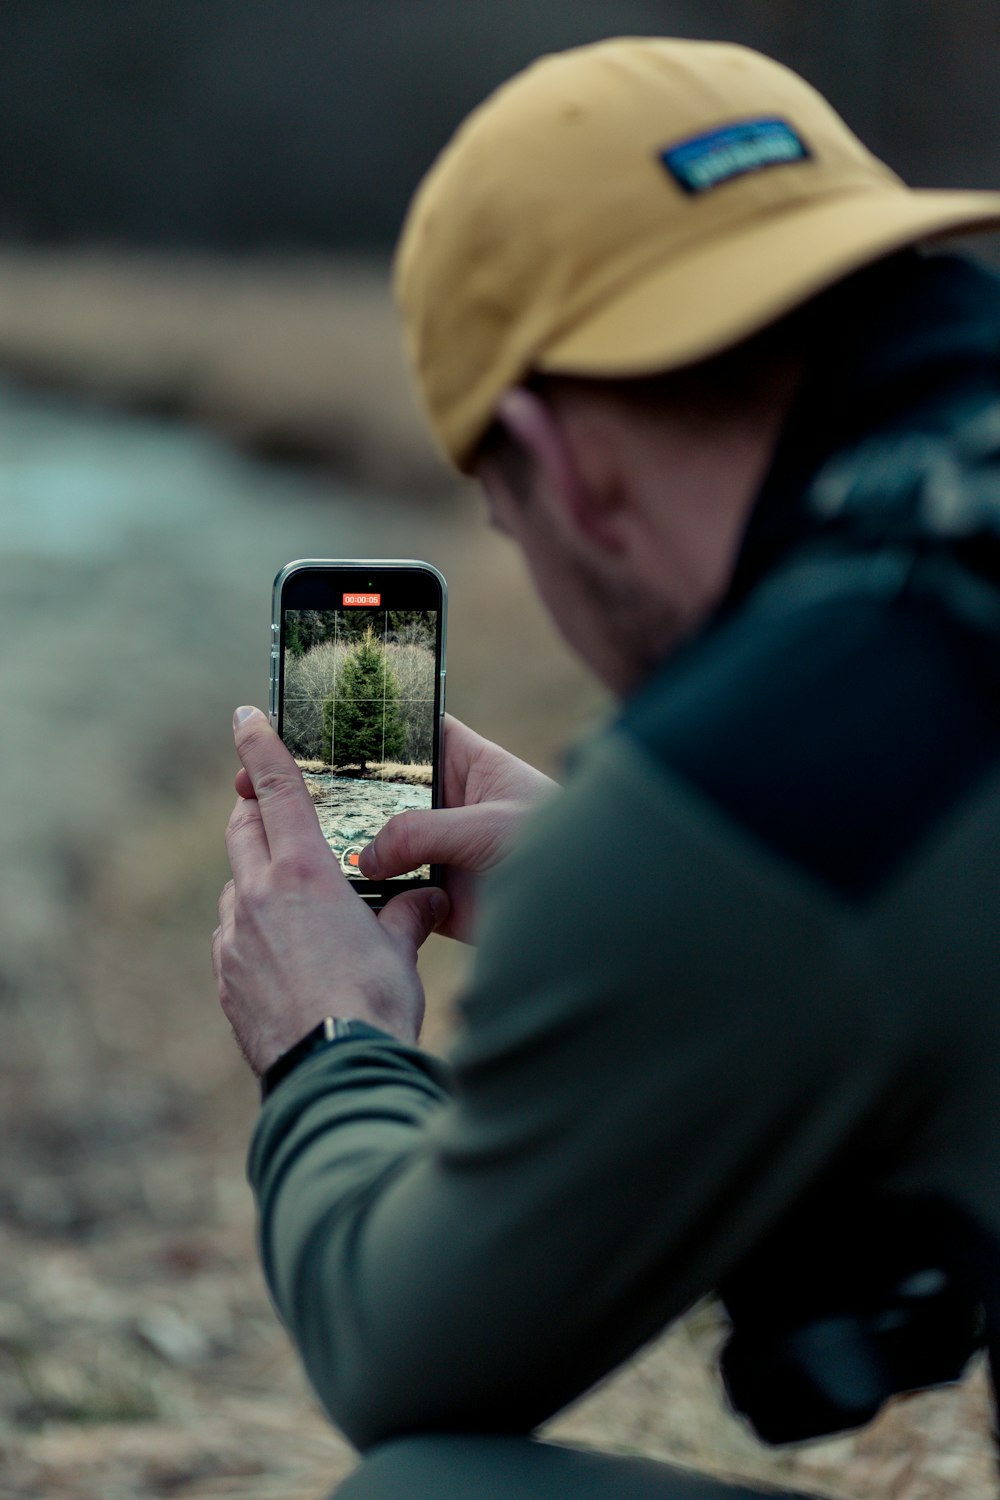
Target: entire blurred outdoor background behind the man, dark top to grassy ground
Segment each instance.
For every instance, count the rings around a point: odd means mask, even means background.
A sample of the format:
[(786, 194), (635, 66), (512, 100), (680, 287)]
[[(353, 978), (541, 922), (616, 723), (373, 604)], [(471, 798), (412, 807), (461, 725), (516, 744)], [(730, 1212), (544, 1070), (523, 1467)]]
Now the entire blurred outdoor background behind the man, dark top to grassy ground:
[[(0, 1496), (306, 1500), (352, 1464), (268, 1308), (214, 999), (229, 716), (292, 556), (423, 556), (450, 706), (558, 774), (604, 705), (432, 453), (388, 252), (541, 51), (729, 38), (916, 184), (1000, 183), (996, 0), (0, 6)], [(996, 258), (994, 242), (981, 249)], [(424, 956), (447, 1041), (465, 954)], [(979, 1376), (769, 1455), (697, 1310), (567, 1437), (828, 1496), (990, 1496)]]

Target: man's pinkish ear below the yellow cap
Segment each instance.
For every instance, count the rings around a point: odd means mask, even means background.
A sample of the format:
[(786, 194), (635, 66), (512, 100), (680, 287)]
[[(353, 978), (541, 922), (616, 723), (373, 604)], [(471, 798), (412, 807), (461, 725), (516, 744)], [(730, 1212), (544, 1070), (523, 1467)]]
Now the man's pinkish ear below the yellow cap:
[(588, 482), (576, 428), (544, 394), (516, 386), (501, 396), (495, 412), (525, 454), (534, 474), (537, 500), (553, 510), (555, 520), (591, 543), (618, 550), (606, 496)]

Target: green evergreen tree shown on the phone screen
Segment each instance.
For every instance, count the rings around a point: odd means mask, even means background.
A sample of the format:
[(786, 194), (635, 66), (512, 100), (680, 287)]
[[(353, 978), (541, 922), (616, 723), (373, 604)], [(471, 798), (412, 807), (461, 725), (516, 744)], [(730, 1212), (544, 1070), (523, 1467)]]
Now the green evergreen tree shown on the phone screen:
[(406, 746), (399, 684), (370, 627), (343, 663), (336, 698), (322, 705), (322, 744), (330, 765), (360, 765), (361, 774), (369, 760), (391, 760)]

